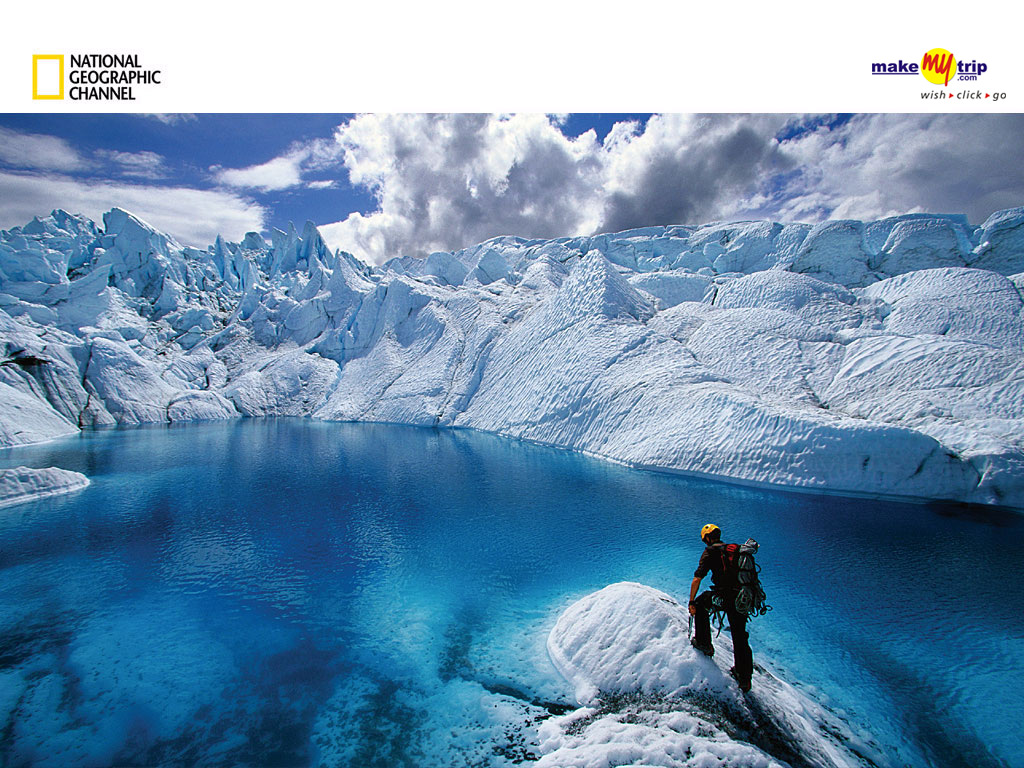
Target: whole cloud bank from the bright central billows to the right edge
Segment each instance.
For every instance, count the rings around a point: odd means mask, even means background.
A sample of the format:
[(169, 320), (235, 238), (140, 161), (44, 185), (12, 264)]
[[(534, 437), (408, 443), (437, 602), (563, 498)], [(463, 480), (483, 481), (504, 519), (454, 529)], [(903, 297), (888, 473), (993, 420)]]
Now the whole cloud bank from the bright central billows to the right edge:
[[(1016, 115), (654, 116), (603, 141), (558, 118), (364, 115), (341, 125), (378, 209), (322, 226), (372, 261), (498, 234), (551, 238), (737, 218), (819, 221), (1024, 203)], [(300, 171), (301, 175), (301, 171)]]

